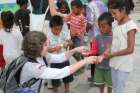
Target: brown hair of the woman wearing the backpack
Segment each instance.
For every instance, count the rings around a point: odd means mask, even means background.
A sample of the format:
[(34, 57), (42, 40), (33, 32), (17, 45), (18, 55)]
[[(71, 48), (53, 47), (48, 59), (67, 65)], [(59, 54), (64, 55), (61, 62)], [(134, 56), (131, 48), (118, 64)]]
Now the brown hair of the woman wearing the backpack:
[(43, 45), (47, 37), (42, 32), (32, 31), (28, 32), (22, 43), (22, 50), (24, 55), (31, 59), (36, 59), (41, 56)]

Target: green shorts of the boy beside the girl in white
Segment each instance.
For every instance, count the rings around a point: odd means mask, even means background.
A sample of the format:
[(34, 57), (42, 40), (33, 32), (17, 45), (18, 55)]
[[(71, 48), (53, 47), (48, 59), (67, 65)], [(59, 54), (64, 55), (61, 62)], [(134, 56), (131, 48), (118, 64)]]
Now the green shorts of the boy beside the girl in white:
[(112, 87), (111, 69), (95, 68), (95, 84), (105, 84), (107, 87)]

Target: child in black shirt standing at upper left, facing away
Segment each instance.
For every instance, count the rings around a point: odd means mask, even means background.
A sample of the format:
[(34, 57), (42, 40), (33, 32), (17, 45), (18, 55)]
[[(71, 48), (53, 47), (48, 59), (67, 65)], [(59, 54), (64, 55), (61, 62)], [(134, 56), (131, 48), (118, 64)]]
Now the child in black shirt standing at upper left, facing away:
[(17, 0), (17, 4), (20, 6), (20, 9), (15, 13), (15, 22), (16, 25), (19, 25), (22, 35), (25, 36), (29, 32), (30, 24), (30, 11), (27, 9), (28, 0)]

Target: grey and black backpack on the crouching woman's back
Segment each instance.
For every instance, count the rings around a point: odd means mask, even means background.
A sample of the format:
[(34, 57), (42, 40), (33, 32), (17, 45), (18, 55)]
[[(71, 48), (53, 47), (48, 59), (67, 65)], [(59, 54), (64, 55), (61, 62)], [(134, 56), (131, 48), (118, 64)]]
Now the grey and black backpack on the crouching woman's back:
[(4, 93), (21, 93), (18, 91), (21, 91), (21, 89), (23, 88), (31, 87), (35, 82), (39, 80), (39, 79), (32, 78), (29, 81), (20, 84), (20, 72), (27, 61), (28, 61), (27, 57), (20, 56), (17, 59), (15, 59), (9, 65), (9, 67), (1, 71), (0, 90), (2, 90)]

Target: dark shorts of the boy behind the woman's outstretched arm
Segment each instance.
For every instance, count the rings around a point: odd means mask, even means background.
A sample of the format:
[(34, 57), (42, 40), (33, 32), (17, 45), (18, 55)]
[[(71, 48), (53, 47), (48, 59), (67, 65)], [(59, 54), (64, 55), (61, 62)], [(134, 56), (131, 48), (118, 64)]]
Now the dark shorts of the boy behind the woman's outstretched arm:
[[(69, 65), (70, 65), (70, 62), (68, 60), (63, 62), (63, 63), (51, 63), (52, 68), (63, 68), (63, 67), (69, 66)], [(65, 78), (62, 78), (62, 81), (64, 83), (72, 82), (73, 81), (73, 75), (69, 75)], [(56, 86), (56, 87), (59, 87), (61, 85), (60, 79), (53, 79), (52, 80), (52, 85)]]

